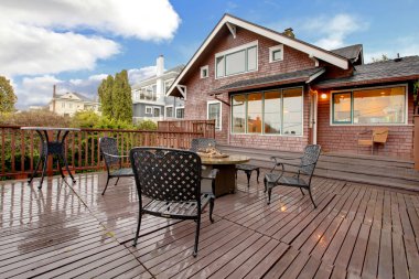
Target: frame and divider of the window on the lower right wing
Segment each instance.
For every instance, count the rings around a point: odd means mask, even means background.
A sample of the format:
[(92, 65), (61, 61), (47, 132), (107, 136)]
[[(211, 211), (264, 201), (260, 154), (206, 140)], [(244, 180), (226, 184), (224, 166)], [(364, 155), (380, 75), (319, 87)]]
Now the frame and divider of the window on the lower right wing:
[[(354, 92), (359, 90), (370, 90), (379, 88), (391, 88), (391, 87), (405, 87), (405, 121), (400, 124), (354, 124)], [(351, 121), (350, 122), (335, 122), (333, 119), (334, 107), (333, 107), (333, 95), (340, 93), (351, 93)], [(373, 86), (373, 87), (359, 87), (359, 88), (348, 88), (342, 90), (331, 90), (330, 92), (330, 126), (346, 126), (346, 127), (356, 127), (356, 126), (407, 126), (409, 121), (409, 87), (408, 84), (393, 84), (385, 86)]]

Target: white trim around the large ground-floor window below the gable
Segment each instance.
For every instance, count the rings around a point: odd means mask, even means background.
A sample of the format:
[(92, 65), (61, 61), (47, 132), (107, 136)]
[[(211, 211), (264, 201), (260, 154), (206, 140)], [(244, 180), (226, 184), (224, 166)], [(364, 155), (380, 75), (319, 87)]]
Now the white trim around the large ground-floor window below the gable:
[[(304, 86), (293, 86), (293, 87), (280, 87), (280, 88), (277, 88), (277, 89), (280, 89), (280, 90), (284, 90), (284, 89), (292, 89), (292, 88), (301, 88), (302, 90), (302, 101), (301, 101), (301, 124), (302, 124), (302, 130), (301, 130), (301, 135), (296, 135), (296, 136), (291, 136), (291, 135), (284, 135), (284, 133), (265, 133), (264, 131), (261, 133), (248, 133), (247, 132), (247, 117), (246, 117), (246, 131), (245, 132), (232, 132), (232, 129), (233, 129), (233, 126), (230, 125), (230, 128), (229, 128), (229, 135), (232, 136), (240, 136), (240, 135), (244, 135), (244, 136), (249, 136), (249, 135), (254, 135), (254, 136), (260, 136), (260, 137), (292, 137), (292, 138), (303, 138), (304, 137), (304, 104), (305, 104), (305, 90), (304, 90)], [(269, 89), (269, 90), (261, 90), (260, 93), (265, 94), (267, 92), (270, 92), (272, 89)], [(247, 94), (251, 94), (250, 93), (243, 93), (245, 95)], [(241, 95), (241, 94), (237, 94), (237, 95)], [(233, 96), (230, 96), (230, 104), (232, 104), (232, 108), (229, 110), (229, 119), (230, 119), (230, 122), (233, 121)], [(247, 106), (247, 105), (246, 105)], [(282, 105), (283, 107), (283, 105)], [(283, 114), (282, 114), (283, 115)], [(247, 116), (247, 107), (246, 107), (246, 116)], [(265, 125), (265, 119), (264, 119), (264, 125)], [(262, 125), (262, 126), (264, 126)]]

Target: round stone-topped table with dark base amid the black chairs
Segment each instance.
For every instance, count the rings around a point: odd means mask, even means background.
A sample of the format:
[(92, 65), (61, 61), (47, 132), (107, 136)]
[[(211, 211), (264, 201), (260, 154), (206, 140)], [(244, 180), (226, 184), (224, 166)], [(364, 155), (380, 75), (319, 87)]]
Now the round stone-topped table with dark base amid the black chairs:
[[(246, 155), (230, 154), (225, 158), (212, 158), (202, 155), (201, 162), (205, 167), (203, 175), (207, 175), (212, 169), (218, 169), (219, 173), (215, 180), (215, 196), (232, 194), (236, 191), (236, 164), (246, 163), (249, 158)], [(208, 184), (208, 185), (206, 185)], [(211, 189), (208, 181), (202, 182), (203, 189)]]

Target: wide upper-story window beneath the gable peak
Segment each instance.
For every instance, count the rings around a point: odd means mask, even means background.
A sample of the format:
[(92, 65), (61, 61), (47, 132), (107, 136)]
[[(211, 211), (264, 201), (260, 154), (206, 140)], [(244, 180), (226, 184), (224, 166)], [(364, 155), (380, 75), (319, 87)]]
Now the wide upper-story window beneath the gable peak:
[(257, 41), (215, 54), (215, 76), (217, 78), (253, 72), (257, 68)]

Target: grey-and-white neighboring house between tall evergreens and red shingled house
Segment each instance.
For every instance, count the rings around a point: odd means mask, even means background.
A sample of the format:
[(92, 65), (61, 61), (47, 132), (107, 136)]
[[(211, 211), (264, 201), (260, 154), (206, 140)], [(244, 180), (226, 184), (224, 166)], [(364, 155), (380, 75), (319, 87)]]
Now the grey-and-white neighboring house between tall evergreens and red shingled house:
[(165, 92), (172, 85), (183, 65), (164, 72), (164, 57), (157, 58), (155, 75), (132, 85), (132, 120), (153, 121), (183, 118), (184, 103), (180, 98), (168, 97)]

